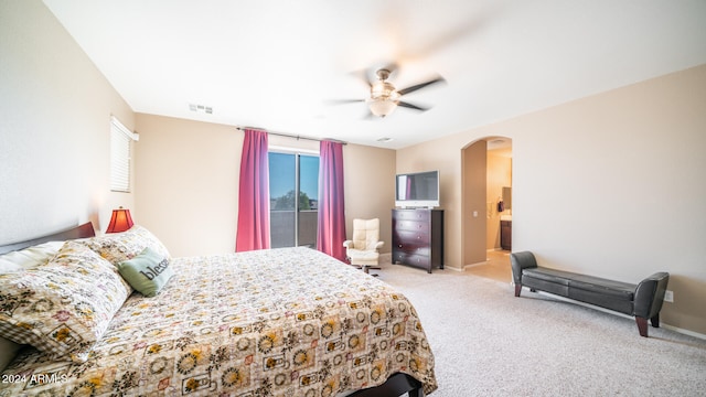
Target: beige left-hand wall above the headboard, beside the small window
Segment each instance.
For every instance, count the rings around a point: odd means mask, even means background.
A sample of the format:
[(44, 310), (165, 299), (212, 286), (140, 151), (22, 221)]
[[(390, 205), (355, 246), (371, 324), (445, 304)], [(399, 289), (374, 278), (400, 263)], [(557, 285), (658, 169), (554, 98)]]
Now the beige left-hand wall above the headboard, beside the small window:
[(0, 2), (0, 243), (133, 204), (111, 193), (110, 116), (133, 114), (41, 1)]

